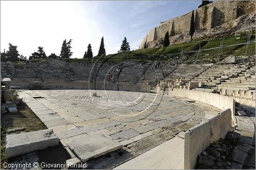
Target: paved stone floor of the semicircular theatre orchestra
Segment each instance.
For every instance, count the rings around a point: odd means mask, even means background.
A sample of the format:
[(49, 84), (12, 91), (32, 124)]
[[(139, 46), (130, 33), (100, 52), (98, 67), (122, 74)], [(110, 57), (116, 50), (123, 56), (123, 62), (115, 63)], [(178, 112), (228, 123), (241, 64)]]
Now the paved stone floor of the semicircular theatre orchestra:
[[(96, 96), (92, 95), (94, 92)], [(144, 92), (23, 90), (18, 94), (41, 121), (53, 129), (63, 145), (79, 136), (101, 132), (123, 144), (122, 153), (126, 153), (127, 158), (120, 159), (121, 162), (176, 135), (182, 138), (189, 128), (221, 111), (198, 101)], [(104, 165), (104, 168), (110, 167), (115, 166)]]

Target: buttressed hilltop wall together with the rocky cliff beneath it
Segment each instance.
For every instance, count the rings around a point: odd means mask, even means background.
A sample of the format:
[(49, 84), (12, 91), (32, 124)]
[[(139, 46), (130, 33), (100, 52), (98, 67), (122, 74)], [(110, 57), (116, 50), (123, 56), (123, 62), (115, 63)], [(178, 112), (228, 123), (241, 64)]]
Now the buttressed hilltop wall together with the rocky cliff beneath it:
[[(160, 47), (169, 32), (170, 45), (190, 40), (189, 24), (192, 12), (161, 22), (147, 33), (140, 48)], [(255, 1), (216, 1), (194, 10), (194, 38), (255, 29)]]

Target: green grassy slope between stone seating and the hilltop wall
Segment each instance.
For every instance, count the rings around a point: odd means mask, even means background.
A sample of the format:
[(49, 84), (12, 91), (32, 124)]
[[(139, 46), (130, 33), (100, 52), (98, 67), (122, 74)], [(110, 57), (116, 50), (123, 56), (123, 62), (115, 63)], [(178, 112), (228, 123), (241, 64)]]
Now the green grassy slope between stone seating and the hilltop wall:
[[(245, 52), (245, 46), (246, 45), (236, 45), (236, 46), (230, 46), (226, 47), (227, 45), (233, 45), (233, 44), (239, 44), (244, 43), (247, 41), (246, 33), (241, 33), (239, 36), (239, 39), (237, 39), (234, 34), (225, 35), (224, 36), (224, 48), (221, 51), (221, 56), (226, 57), (230, 55), (244, 55)], [(221, 37), (205, 37), (205, 38), (199, 38), (194, 39), (190, 42), (183, 42), (180, 44), (174, 44), (167, 47), (160, 47), (160, 48), (145, 48), (145, 49), (138, 49), (131, 52), (124, 52), (119, 54), (111, 54), (105, 57), (100, 58), (100, 61), (104, 61), (108, 58), (108, 61), (106, 62), (124, 62), (124, 61), (138, 61), (138, 62), (147, 62), (147, 61), (170, 61), (177, 57), (181, 56), (181, 52), (190, 52), (198, 50), (199, 43), (202, 43), (203, 41), (207, 41), (207, 43), (202, 47), (202, 50), (206, 50), (208, 48), (214, 48), (220, 46), (220, 40)], [(253, 31), (253, 35), (251, 37), (251, 41), (255, 41), (255, 31)], [(251, 53), (250, 55), (255, 54), (255, 43), (250, 44)], [(207, 59), (207, 60), (215, 60), (218, 56), (219, 49), (214, 50), (207, 50), (201, 52), (201, 59)], [(190, 62), (193, 62), (193, 60), (196, 58), (197, 53), (186, 53), (185, 54)], [(167, 57), (168, 56), (168, 57)], [(59, 59), (67, 62), (82, 62), (82, 63), (95, 63), (98, 58), (93, 59)], [(37, 61), (37, 60), (36, 60)], [(33, 62), (36, 62), (33, 61)]]

